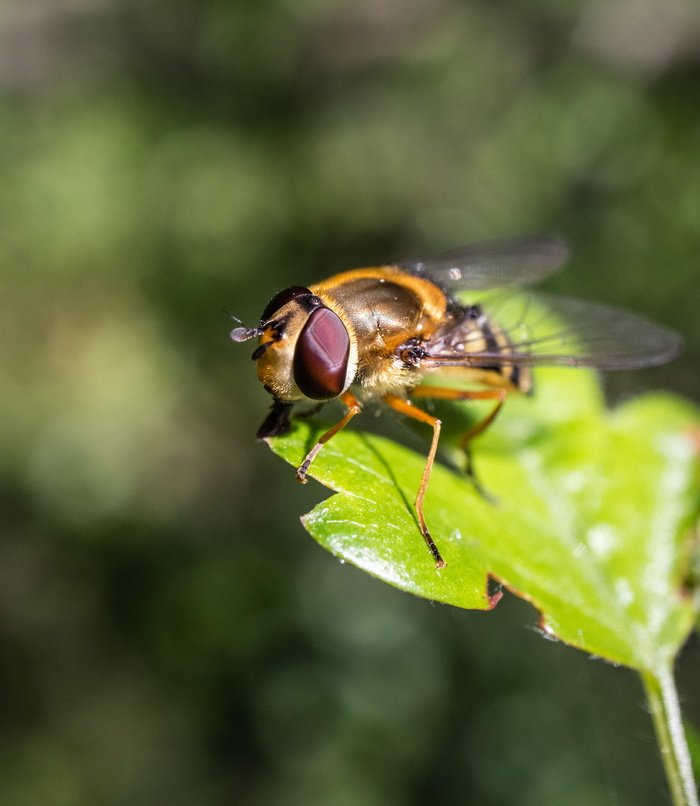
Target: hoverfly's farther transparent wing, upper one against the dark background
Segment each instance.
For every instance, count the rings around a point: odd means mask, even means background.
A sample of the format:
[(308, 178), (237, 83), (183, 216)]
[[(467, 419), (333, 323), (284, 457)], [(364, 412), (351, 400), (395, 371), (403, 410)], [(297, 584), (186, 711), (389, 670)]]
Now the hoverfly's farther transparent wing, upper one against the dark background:
[(558, 235), (526, 235), (482, 241), (395, 265), (452, 291), (479, 291), (537, 282), (556, 271), (568, 254)]

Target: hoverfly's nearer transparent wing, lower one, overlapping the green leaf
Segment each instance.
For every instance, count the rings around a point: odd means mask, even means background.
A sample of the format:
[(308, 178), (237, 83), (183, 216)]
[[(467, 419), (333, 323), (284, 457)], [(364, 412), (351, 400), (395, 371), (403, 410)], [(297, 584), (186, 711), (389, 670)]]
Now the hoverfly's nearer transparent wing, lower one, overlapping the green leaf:
[(681, 337), (672, 330), (627, 311), (581, 300), (521, 293), (491, 303), (485, 300), (481, 307), (481, 321), (465, 319), (426, 346), (424, 366), (631, 369), (665, 364), (683, 348)]

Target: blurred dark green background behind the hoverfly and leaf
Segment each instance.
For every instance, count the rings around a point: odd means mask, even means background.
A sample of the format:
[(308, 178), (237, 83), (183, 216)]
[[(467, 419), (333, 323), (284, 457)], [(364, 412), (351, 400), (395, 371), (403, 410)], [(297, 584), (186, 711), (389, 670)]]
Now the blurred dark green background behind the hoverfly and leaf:
[(667, 802), (632, 672), (303, 532), (221, 309), (557, 231), (699, 399), (699, 157), (693, 0), (2, 0), (0, 803)]

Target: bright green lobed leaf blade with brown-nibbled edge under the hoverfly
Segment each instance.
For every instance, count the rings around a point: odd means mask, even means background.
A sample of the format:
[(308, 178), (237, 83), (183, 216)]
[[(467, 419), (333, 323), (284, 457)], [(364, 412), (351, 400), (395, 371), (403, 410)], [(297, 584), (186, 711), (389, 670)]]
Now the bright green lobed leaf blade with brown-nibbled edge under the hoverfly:
[[(685, 584), (700, 503), (698, 423), (670, 395), (609, 411), (593, 373), (541, 370), (537, 393), (509, 399), (474, 446), (497, 503), (464, 474), (434, 468), (425, 514), (447, 568), (434, 567), (415, 519), (425, 456), (382, 437), (348, 428), (329, 441), (311, 475), (337, 494), (303, 521), (333, 554), (399, 588), (486, 609), (491, 577), (540, 611), (546, 633), (659, 669), (696, 614)], [(270, 444), (298, 465), (327, 427), (299, 420)]]

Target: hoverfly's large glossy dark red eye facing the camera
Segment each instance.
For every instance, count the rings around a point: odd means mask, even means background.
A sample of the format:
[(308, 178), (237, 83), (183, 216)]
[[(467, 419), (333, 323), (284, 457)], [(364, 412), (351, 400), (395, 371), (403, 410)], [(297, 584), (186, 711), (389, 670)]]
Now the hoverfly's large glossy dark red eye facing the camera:
[(312, 400), (330, 400), (345, 388), (350, 336), (330, 308), (315, 310), (294, 350), (294, 380)]

